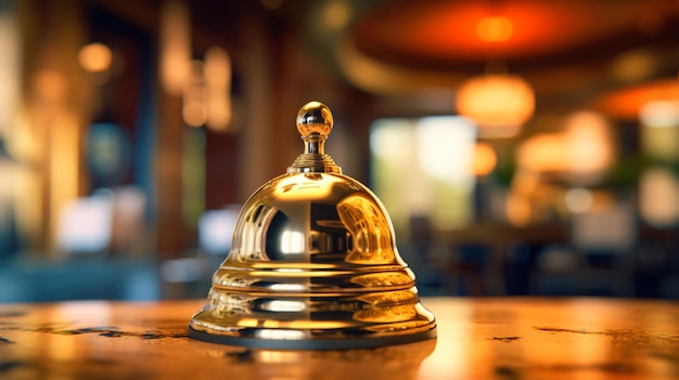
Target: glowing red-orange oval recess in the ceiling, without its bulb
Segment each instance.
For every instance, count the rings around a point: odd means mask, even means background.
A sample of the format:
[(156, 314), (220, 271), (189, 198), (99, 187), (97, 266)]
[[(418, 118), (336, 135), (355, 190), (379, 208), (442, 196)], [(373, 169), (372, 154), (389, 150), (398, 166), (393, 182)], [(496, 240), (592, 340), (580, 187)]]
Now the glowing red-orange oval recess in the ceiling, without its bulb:
[[(483, 41), (484, 17), (504, 16), (503, 41)], [(503, 60), (515, 69), (573, 64), (679, 36), (668, 0), (395, 0), (366, 13), (351, 39), (366, 54), (427, 69), (478, 70)]]

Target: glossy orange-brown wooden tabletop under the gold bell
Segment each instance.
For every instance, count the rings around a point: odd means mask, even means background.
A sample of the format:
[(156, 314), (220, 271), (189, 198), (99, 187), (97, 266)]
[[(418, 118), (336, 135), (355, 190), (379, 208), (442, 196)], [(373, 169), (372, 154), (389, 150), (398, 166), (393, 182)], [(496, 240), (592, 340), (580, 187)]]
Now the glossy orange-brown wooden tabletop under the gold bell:
[(345, 351), (195, 341), (205, 300), (0, 304), (1, 379), (678, 379), (679, 302), (424, 298), (438, 338)]

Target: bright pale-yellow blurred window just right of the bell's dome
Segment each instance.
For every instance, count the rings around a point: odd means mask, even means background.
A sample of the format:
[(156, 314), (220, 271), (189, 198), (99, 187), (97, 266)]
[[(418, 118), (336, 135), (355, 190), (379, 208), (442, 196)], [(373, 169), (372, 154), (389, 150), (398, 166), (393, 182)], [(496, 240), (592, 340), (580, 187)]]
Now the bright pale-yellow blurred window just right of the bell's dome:
[(427, 215), (433, 227), (473, 221), (476, 128), (458, 116), (375, 120), (370, 131), (371, 183), (395, 228)]

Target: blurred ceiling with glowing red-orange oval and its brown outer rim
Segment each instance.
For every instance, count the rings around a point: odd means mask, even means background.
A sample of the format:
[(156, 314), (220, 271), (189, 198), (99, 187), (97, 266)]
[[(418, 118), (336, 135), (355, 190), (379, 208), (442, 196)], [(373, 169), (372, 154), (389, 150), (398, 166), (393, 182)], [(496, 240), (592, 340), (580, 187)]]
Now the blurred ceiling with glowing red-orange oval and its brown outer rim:
[[(347, 80), (374, 93), (456, 88), (473, 75), (501, 69), (530, 81), (541, 106), (601, 104), (598, 97), (611, 91), (676, 79), (679, 68), (676, 0), (316, 3), (309, 18), (317, 24), (333, 23), (328, 4), (345, 3), (351, 11), (334, 34), (318, 27), (307, 34), (330, 50)], [(509, 37), (482, 40), (484, 17), (505, 17)]]

